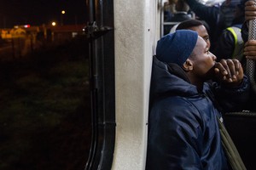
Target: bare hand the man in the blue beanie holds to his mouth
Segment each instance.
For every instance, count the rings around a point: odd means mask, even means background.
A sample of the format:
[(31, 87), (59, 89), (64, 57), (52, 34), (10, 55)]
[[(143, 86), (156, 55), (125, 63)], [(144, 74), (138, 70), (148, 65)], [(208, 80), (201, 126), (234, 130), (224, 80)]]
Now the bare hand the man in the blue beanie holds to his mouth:
[(238, 86), (243, 79), (243, 70), (238, 59), (221, 59), (215, 64), (215, 74), (220, 82)]

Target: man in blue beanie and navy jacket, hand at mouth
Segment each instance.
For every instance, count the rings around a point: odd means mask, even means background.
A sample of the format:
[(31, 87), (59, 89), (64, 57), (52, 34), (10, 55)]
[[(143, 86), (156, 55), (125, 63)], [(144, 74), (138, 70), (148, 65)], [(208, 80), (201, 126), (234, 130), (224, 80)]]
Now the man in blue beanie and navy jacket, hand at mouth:
[(178, 30), (157, 42), (147, 170), (229, 169), (218, 119), (246, 102), (249, 83), (237, 59), (215, 60), (195, 31)]

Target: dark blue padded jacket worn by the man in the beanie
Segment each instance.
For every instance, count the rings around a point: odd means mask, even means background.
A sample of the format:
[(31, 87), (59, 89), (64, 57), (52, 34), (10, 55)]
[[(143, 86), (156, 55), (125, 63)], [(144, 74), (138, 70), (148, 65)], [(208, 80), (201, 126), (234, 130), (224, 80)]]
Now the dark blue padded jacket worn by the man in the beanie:
[(154, 57), (146, 169), (228, 169), (218, 131), (218, 108), (232, 111), (241, 105), (247, 98), (247, 77), (239, 88), (205, 83), (199, 94), (178, 68), (172, 68), (171, 74), (167, 65)]

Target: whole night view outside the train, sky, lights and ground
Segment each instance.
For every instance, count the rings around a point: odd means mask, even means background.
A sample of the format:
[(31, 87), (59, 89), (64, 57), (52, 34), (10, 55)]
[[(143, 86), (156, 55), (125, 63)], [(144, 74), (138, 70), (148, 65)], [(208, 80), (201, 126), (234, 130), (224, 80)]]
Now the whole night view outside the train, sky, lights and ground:
[(85, 7), (84, 0), (2, 1), (0, 169), (84, 169), (91, 140)]

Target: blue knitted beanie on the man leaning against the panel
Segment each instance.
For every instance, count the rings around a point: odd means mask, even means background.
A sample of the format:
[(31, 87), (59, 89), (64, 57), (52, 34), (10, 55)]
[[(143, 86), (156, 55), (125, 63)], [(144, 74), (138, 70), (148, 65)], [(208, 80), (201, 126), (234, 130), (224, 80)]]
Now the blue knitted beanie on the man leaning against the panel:
[(182, 66), (195, 48), (197, 38), (197, 32), (190, 30), (177, 30), (167, 34), (157, 42), (156, 57), (167, 64)]

